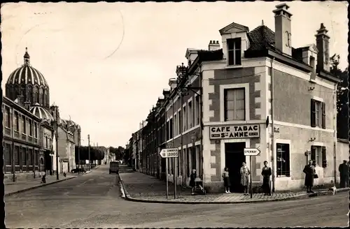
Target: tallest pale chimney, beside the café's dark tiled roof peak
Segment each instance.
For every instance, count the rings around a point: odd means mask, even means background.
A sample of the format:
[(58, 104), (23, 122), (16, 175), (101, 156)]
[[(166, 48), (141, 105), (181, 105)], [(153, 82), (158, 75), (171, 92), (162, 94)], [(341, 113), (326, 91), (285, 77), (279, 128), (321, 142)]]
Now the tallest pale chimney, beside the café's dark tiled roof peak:
[(274, 47), (284, 54), (292, 55), (291, 40), (291, 13), (288, 12), (289, 6), (282, 3), (276, 6), (274, 13)]

